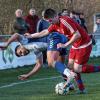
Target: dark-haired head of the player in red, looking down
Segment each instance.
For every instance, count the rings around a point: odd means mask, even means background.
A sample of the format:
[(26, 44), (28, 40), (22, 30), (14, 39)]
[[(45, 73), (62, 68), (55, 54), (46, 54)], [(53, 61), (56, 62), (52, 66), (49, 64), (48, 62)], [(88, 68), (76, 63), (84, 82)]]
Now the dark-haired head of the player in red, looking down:
[(59, 21), (59, 17), (58, 17), (57, 12), (51, 8), (46, 9), (44, 11), (44, 19), (49, 21), (51, 24), (58, 23), (58, 21)]

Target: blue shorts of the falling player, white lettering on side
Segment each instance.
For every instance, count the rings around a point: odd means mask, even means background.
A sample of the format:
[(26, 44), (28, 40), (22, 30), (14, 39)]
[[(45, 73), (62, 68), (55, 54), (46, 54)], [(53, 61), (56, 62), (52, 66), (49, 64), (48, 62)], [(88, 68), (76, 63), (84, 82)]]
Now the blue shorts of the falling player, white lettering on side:
[(66, 43), (68, 41), (67, 37), (58, 32), (53, 32), (50, 34), (48, 39), (47, 51), (59, 51), (60, 55), (66, 55), (66, 48), (57, 48), (58, 43)]

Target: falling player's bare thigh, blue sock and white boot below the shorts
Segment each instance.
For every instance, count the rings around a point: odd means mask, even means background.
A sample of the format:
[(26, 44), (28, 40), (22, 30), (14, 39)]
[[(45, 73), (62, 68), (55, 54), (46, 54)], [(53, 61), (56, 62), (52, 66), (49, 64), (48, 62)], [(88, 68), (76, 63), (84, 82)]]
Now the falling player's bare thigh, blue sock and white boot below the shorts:
[(64, 76), (67, 80), (67, 84), (74, 78), (74, 73), (70, 71), (64, 63), (58, 61), (59, 52), (57, 51), (47, 51), (48, 65), (53, 66), (59, 73)]

